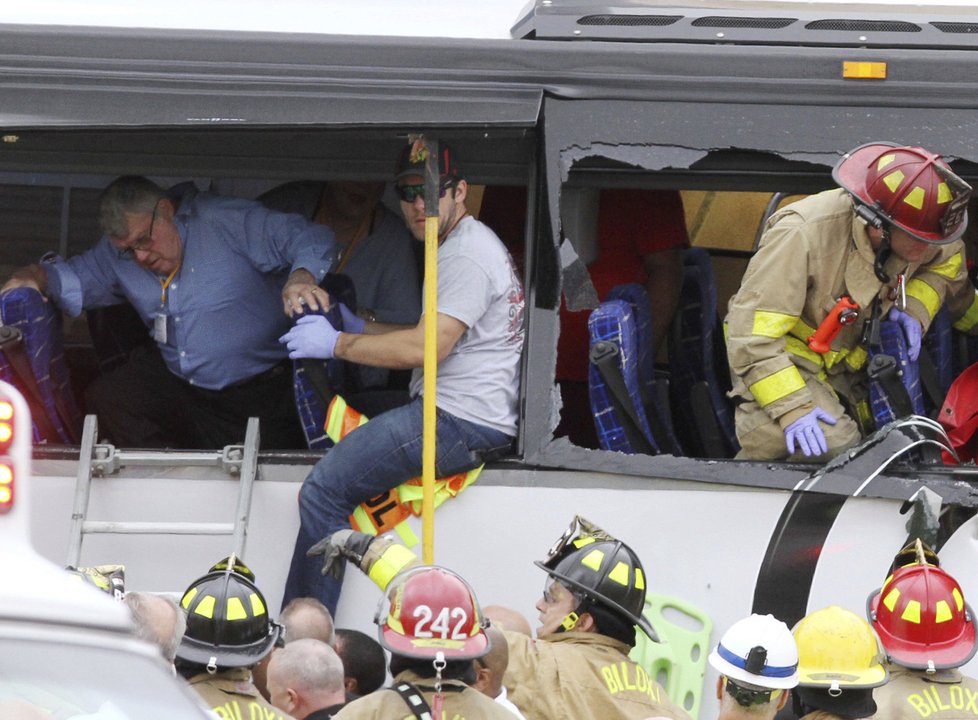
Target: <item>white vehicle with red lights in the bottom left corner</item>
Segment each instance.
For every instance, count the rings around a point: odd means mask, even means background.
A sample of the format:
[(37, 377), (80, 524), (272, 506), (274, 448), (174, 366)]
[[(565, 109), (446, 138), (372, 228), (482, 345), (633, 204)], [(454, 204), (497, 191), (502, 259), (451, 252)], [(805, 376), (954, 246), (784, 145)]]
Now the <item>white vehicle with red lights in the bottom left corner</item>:
[(134, 637), (124, 604), (34, 551), (30, 433), (27, 404), (0, 382), (0, 717), (211, 717), (159, 650)]

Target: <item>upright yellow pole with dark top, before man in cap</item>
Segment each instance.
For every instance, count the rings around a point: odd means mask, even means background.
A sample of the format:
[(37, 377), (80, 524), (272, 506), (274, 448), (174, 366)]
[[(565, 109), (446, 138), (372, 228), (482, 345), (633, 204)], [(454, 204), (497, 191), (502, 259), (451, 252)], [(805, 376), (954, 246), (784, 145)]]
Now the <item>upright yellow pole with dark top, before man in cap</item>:
[[(424, 140), (421, 140), (424, 143)], [(424, 176), (424, 425), (421, 451), (421, 557), (435, 562), (435, 380), (438, 375), (438, 143), (427, 143)]]

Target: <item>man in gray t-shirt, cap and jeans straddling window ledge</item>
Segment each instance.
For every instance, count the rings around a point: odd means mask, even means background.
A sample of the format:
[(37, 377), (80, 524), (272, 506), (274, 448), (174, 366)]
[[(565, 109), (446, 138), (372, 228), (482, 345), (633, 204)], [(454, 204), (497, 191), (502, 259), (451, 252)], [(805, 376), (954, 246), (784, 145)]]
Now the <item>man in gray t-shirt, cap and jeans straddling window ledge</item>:
[[(425, 236), (426, 151), (405, 147), (396, 189), (408, 230)], [(465, 472), (504, 453), (516, 436), (523, 286), (499, 238), (468, 215), (466, 183), (452, 150), (438, 166), (438, 377), (435, 470)], [(347, 332), (321, 315), (301, 318), (282, 337), (289, 357), (341, 358), (364, 365), (413, 369), (411, 401), (347, 435), (313, 468), (299, 493), (301, 525), (285, 586), (287, 603), (316, 597), (336, 611), (340, 582), (322, 576), (306, 552), (348, 527), (353, 509), (421, 473), (424, 318), (414, 326), (366, 322), (340, 306)]]

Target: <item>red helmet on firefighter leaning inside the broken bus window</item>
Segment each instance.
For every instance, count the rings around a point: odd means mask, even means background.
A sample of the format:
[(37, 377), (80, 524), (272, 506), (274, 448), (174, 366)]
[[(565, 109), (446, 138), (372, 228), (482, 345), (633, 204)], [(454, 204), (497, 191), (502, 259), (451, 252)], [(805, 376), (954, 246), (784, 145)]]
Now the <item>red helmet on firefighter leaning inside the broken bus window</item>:
[(953, 242), (968, 224), (971, 186), (923, 148), (861, 145), (842, 157), (832, 177), (872, 215), (918, 240)]

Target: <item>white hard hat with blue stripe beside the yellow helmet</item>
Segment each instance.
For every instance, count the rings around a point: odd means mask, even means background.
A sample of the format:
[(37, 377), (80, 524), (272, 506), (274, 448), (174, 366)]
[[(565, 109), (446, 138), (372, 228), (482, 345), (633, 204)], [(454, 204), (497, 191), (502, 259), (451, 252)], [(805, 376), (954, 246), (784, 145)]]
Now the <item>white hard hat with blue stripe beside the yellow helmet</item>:
[(751, 615), (735, 622), (709, 660), (721, 675), (758, 687), (777, 690), (798, 684), (795, 639), (773, 615)]

